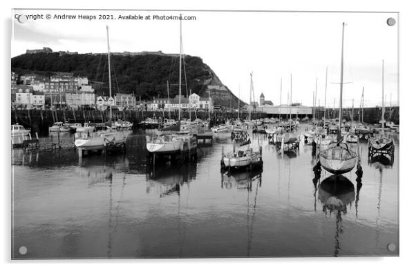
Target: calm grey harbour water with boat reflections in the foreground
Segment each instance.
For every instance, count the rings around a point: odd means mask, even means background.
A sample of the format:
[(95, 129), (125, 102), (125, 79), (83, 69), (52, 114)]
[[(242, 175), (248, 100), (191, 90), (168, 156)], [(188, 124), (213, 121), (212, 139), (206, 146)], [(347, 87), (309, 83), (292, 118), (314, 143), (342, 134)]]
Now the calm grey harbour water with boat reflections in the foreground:
[[(355, 169), (339, 182), (323, 170), (314, 181), (312, 146), (303, 141), (283, 156), (263, 135), (252, 141), (263, 146), (263, 171), (230, 177), (220, 173), (229, 134), (201, 147), (196, 163), (154, 170), (143, 131), (129, 136), (124, 154), (79, 159), (72, 148), (13, 150), (12, 258), (399, 254), (398, 135), (393, 166), (369, 162), (366, 142), (359, 143), (362, 186)], [(346, 209), (325, 210), (331, 196)]]

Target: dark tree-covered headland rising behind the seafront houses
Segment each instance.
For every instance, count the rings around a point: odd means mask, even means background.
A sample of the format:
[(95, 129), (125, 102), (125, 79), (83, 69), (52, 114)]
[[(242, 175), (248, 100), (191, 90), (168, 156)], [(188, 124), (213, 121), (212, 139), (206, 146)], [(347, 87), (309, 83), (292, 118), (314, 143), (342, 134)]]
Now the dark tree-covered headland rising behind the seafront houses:
[[(215, 105), (236, 107), (237, 97), (224, 86), (215, 72), (200, 57), (184, 55), (182, 62), (182, 94), (194, 92), (208, 97)], [(88, 77), (97, 94), (108, 94), (108, 61), (106, 54), (21, 54), (12, 58), (12, 71), (18, 74), (37, 72), (46, 76), (53, 72), (71, 72)], [(176, 54), (114, 53), (111, 55), (113, 92), (134, 93), (144, 100), (153, 97), (173, 97), (179, 92), (179, 61)], [(240, 102), (240, 106), (243, 106)]]

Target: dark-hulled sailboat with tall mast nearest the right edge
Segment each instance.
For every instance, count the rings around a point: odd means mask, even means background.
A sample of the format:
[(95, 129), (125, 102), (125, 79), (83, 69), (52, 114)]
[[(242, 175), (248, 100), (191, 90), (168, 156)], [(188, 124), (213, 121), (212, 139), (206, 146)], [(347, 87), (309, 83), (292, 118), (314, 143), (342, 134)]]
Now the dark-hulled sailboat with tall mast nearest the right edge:
[(382, 83), (381, 83), (381, 92), (382, 92), (382, 110), (381, 110), (381, 135), (378, 137), (373, 137), (368, 142), (368, 154), (373, 154), (377, 152), (387, 152), (392, 153), (394, 150), (393, 139), (390, 139), (384, 135), (384, 60), (382, 67)]

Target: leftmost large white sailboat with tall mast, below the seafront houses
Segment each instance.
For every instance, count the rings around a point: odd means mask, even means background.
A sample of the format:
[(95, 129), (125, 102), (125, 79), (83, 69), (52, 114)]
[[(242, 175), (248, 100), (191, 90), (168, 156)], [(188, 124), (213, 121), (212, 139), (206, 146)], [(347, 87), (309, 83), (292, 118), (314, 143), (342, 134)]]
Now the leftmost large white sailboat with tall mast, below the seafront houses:
[[(110, 64), (110, 40), (108, 38), (108, 26), (107, 26), (107, 45), (108, 45), (108, 85), (109, 94), (111, 97), (111, 64)], [(108, 123), (111, 126), (112, 114), (110, 103), (110, 121)], [(91, 130), (93, 126), (88, 126), (88, 123), (84, 123), (84, 128), (75, 133), (75, 146), (81, 150), (104, 150), (109, 144), (114, 146), (120, 146), (126, 143), (126, 135), (124, 132), (117, 132), (112, 130), (111, 127), (106, 127), (106, 130), (100, 130), (94, 132)]]

